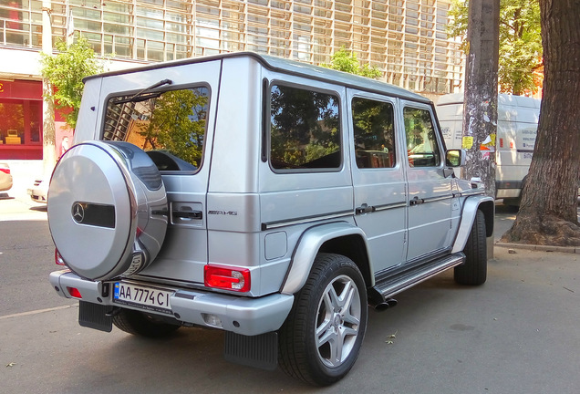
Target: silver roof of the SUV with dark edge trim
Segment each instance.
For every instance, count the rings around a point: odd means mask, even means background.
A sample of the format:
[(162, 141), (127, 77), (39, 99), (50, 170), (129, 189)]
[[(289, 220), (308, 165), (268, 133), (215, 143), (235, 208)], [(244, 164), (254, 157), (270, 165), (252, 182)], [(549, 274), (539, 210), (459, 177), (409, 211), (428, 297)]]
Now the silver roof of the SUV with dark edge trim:
[(110, 71), (90, 76), (84, 78), (83, 81), (86, 82), (88, 79), (91, 78), (110, 77), (116, 75), (130, 74), (133, 72), (146, 71), (150, 69), (202, 63), (231, 57), (253, 57), (264, 67), (273, 71), (283, 72), (286, 74), (301, 76), (305, 78), (311, 78), (319, 81), (335, 83), (345, 86), (347, 88), (357, 88), (369, 92), (375, 92), (378, 94), (387, 94), (388, 96), (394, 96), (401, 99), (409, 99), (412, 101), (419, 101), (428, 104), (431, 103), (430, 99), (425, 98), (417, 93), (413, 93), (405, 88), (400, 88), (398, 86), (391, 85), (386, 82), (378, 81), (377, 79), (361, 77), (347, 72), (337, 71), (331, 68), (314, 66), (309, 63), (302, 63), (295, 60), (285, 59), (282, 57), (261, 55), (254, 52), (233, 52), (228, 54), (220, 54), (206, 57), (191, 57), (162, 63), (154, 63), (147, 66), (132, 67), (119, 71)]

